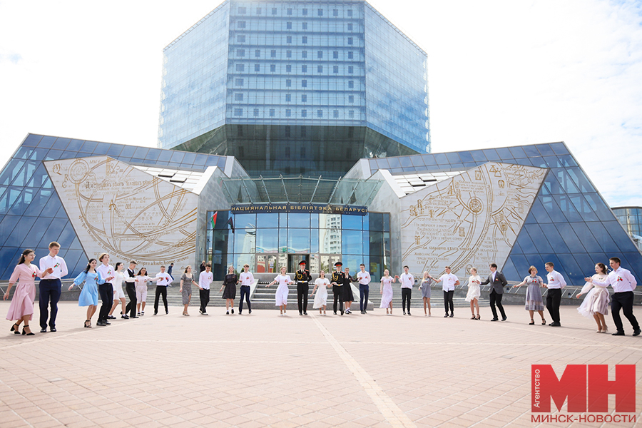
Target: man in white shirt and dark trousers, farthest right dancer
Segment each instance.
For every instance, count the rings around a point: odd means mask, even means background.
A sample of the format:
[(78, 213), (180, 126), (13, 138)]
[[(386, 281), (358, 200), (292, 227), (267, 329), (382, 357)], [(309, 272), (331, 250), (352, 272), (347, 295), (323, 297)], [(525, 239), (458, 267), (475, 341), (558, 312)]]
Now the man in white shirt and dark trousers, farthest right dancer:
[(628, 319), (628, 322), (631, 322), (633, 327), (633, 336), (640, 334), (640, 325), (638, 320), (636, 320), (635, 315), (633, 315), (633, 290), (636, 289), (638, 282), (636, 278), (631, 275), (631, 272), (620, 267), (621, 260), (617, 257), (612, 257), (609, 259), (609, 265), (613, 269), (611, 273), (606, 277), (606, 282), (598, 282), (592, 278), (584, 278), (586, 282), (593, 282), (595, 285), (600, 285), (601, 287), (608, 287), (611, 285), (613, 287), (613, 295), (611, 296), (611, 316), (613, 317), (613, 322), (615, 322), (617, 331), (613, 333), (613, 336), (623, 336), (624, 335), (624, 326), (622, 325), (622, 319), (620, 317), (620, 309), (624, 313), (624, 316)]

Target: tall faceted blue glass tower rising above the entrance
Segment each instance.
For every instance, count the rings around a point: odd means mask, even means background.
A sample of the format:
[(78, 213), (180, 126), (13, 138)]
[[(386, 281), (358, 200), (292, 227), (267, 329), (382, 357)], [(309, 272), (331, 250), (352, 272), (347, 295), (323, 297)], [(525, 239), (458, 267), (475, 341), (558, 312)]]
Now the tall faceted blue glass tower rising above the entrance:
[(427, 55), (365, 1), (226, 1), (165, 48), (162, 92), (159, 147), (253, 176), (429, 151)]

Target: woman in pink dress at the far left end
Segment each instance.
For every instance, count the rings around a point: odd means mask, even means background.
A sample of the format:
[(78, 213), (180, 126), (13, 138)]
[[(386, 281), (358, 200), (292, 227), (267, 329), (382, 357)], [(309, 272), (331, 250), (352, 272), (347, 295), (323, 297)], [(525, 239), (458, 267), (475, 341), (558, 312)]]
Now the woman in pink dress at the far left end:
[(51, 267), (45, 272), (41, 272), (38, 266), (31, 264), (34, 258), (36, 258), (34, 250), (24, 250), (22, 252), (20, 261), (15, 267), (14, 273), (11, 274), (11, 278), (9, 278), (9, 287), (6, 288), (6, 293), (4, 293), (4, 300), (6, 300), (9, 297), (11, 286), (18, 282), (14, 297), (11, 299), (11, 305), (9, 305), (9, 312), (6, 314), (7, 320), (17, 321), (11, 326), (11, 331), (15, 335), (20, 334), (18, 330), (20, 323), (23, 321), (22, 334), (27, 336), (34, 335), (29, 328), (29, 321), (31, 321), (31, 316), (34, 315), (34, 300), (36, 299), (34, 281), (36, 276), (42, 277), (46, 272), (54, 272)]

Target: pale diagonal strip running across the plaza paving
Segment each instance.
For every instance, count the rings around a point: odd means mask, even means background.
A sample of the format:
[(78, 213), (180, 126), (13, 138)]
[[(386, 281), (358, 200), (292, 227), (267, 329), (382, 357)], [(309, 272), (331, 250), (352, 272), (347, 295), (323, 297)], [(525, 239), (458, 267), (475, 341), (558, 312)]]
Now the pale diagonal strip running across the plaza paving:
[(350, 355), (350, 353), (342, 347), (335, 337), (332, 336), (332, 333), (330, 333), (330, 331), (328, 331), (327, 328), (317, 320), (317, 317), (312, 315), (312, 320), (314, 320), (327, 342), (335, 349), (341, 360), (345, 362), (347, 368), (355, 375), (361, 384), (361, 387), (364, 389), (366, 394), (368, 394), (370, 399), (372, 399), (374, 405), (377, 406), (377, 409), (379, 409), (379, 412), (381, 412), (389, 424), (391, 424), (392, 427), (416, 428), (417, 426), (414, 422), (406, 416), (402, 409), (397, 407), (397, 404), (394, 404), (392, 399), (388, 397), (384, 390), (379, 387), (377, 382), (372, 379), (372, 376), (370, 376), (370, 374), (361, 367), (357, 360), (352, 358), (352, 355)]

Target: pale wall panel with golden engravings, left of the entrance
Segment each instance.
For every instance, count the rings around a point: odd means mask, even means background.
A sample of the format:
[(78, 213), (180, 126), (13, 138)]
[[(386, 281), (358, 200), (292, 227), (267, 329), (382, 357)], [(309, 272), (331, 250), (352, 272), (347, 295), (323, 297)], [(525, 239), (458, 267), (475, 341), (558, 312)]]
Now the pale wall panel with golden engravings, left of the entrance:
[(96, 248), (154, 265), (193, 255), (197, 195), (107, 156), (55, 168), (56, 191), (88, 254)]

